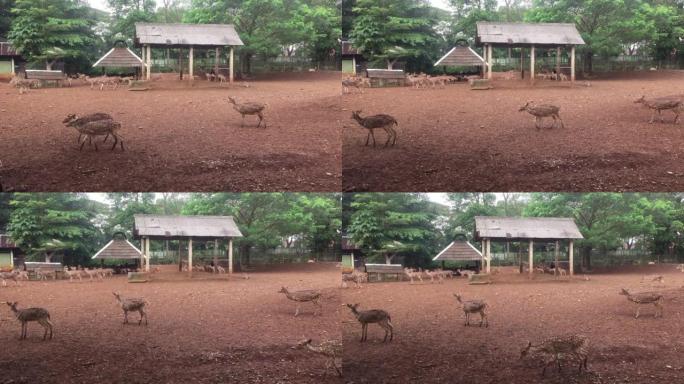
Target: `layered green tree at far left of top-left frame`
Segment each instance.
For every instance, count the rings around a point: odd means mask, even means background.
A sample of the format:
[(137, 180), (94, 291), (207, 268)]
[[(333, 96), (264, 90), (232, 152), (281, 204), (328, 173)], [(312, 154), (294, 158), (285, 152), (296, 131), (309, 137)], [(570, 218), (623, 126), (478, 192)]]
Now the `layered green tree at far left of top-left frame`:
[(84, 58), (95, 43), (89, 12), (78, 0), (16, 0), (8, 37), (22, 56), (51, 69), (57, 60)]

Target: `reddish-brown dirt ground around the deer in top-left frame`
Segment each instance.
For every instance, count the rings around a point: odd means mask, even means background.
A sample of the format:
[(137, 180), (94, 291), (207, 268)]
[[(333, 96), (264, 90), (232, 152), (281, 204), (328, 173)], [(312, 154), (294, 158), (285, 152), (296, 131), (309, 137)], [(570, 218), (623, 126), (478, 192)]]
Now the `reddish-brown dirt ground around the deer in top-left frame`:
[[(175, 77), (147, 92), (0, 84), (0, 182), (16, 191), (339, 191), (338, 72), (257, 77), (245, 88)], [(268, 128), (228, 96), (267, 104)], [(79, 152), (67, 114), (106, 112), (126, 151)], [(98, 141), (103, 138), (99, 137)], [(104, 147), (104, 148), (103, 148)]]

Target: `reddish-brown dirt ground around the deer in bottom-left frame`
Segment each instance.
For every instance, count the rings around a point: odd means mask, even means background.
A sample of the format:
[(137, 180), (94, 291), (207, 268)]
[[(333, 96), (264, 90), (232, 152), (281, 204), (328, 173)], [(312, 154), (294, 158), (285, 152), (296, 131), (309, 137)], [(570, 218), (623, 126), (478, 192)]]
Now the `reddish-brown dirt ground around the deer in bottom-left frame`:
[[(257, 269), (250, 279), (192, 280), (166, 267), (146, 284), (118, 276), (105, 282), (24, 282), (0, 288), (0, 383), (336, 383), (325, 358), (291, 346), (310, 337), (340, 340), (339, 269), (332, 263)], [(238, 274), (238, 276), (240, 276)], [(281, 286), (322, 291), (323, 314), (294, 315)], [(112, 291), (142, 296), (149, 325), (122, 325)], [(50, 311), (54, 339), (20, 323), (5, 301)], [(308, 304), (308, 303), (306, 303)]]

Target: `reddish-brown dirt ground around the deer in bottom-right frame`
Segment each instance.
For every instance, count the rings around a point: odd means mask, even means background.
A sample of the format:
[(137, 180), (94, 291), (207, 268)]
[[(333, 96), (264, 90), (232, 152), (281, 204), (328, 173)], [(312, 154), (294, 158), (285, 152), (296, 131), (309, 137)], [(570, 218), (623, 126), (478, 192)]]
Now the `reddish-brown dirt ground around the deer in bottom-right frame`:
[[(644, 274), (660, 273), (663, 285), (642, 284)], [(371, 325), (360, 343), (361, 327), (342, 314), (345, 379), (353, 383), (680, 383), (684, 376), (684, 274), (675, 267), (649, 267), (595, 274), (585, 281), (503, 273), (491, 285), (468, 285), (464, 278), (444, 284), (371, 283), (347, 289), (345, 303), (387, 310), (395, 337), (382, 343)], [(665, 296), (664, 318), (654, 307), (634, 306), (620, 288), (658, 290)], [(464, 326), (453, 293), (489, 304), (489, 327)], [(589, 372), (577, 366), (561, 373), (552, 367), (541, 377), (534, 360), (520, 360), (528, 341), (579, 333), (590, 339)]]

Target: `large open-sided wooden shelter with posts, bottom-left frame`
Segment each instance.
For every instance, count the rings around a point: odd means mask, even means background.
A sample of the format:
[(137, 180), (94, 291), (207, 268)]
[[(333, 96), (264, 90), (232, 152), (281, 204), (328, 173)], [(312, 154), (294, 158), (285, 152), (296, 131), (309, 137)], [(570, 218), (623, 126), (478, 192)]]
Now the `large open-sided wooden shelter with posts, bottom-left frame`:
[(150, 270), (150, 240), (187, 240), (188, 275), (192, 276), (192, 242), (227, 239), (228, 273), (233, 273), (233, 239), (242, 237), (232, 216), (134, 215), (135, 237), (142, 242), (145, 271)]

